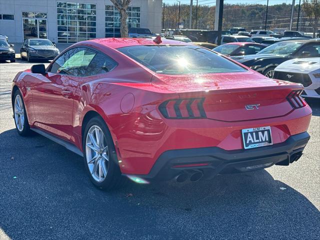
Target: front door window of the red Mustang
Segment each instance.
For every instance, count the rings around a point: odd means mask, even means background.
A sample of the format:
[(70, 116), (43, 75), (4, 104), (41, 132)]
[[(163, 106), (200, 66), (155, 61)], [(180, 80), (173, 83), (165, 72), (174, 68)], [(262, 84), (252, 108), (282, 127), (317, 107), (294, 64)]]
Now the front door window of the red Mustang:
[(75, 47), (58, 57), (49, 70), (73, 76), (83, 76), (97, 52), (86, 47)]

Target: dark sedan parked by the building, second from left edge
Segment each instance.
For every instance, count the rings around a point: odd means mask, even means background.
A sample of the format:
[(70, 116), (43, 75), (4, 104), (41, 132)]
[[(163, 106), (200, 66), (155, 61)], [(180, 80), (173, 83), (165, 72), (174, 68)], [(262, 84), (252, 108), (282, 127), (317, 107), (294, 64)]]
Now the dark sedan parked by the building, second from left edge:
[(21, 59), (32, 60), (52, 60), (59, 54), (59, 49), (55, 47), (49, 39), (27, 38), (21, 48)]

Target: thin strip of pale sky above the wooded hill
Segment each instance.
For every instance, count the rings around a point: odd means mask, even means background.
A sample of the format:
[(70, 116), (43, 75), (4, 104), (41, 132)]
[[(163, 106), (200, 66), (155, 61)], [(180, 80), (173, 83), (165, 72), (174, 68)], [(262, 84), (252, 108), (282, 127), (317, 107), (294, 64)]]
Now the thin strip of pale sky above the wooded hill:
[[(190, 0), (179, 0), (181, 4), (189, 4)], [(215, 5), (216, 0), (198, 0), (198, 5)], [(234, 3), (259, 3), (266, 5), (267, 0), (224, 0), (224, 3), (234, 4)], [(162, 0), (163, 3), (174, 4), (177, 0)], [(269, 0), (269, 5), (281, 4), (281, 3), (291, 4), (292, 0)], [(301, 1), (302, 2), (302, 1)], [(298, 4), (299, 0), (295, 0), (295, 4)], [(193, 0), (193, 4), (196, 4), (196, 0)]]

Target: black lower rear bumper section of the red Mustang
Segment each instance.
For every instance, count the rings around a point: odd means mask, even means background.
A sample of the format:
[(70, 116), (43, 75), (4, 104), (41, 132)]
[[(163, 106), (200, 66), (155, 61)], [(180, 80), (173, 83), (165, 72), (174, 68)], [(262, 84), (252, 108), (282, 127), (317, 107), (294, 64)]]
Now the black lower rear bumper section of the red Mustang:
[[(257, 170), (274, 164), (289, 165), (301, 156), (309, 138), (307, 132), (302, 132), (290, 136), (284, 142), (252, 149), (223, 150), (219, 147), (203, 147), (168, 150), (158, 157), (148, 174), (134, 176), (169, 180), (183, 171), (201, 170), (203, 178), (209, 179), (219, 173)], [(206, 165), (181, 166), (199, 163)]]

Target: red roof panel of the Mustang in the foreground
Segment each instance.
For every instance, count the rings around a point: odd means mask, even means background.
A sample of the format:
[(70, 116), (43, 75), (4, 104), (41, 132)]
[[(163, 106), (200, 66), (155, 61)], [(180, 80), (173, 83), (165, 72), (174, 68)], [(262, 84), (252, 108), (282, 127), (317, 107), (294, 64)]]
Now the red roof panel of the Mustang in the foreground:
[(101, 45), (105, 45), (111, 48), (120, 48), (125, 46), (137, 46), (137, 45), (192, 45), (187, 42), (170, 40), (161, 37), (161, 43), (156, 43), (152, 38), (139, 38), (139, 37), (107, 37), (107, 38), (96, 38), (84, 41), (85, 42), (96, 42)]

